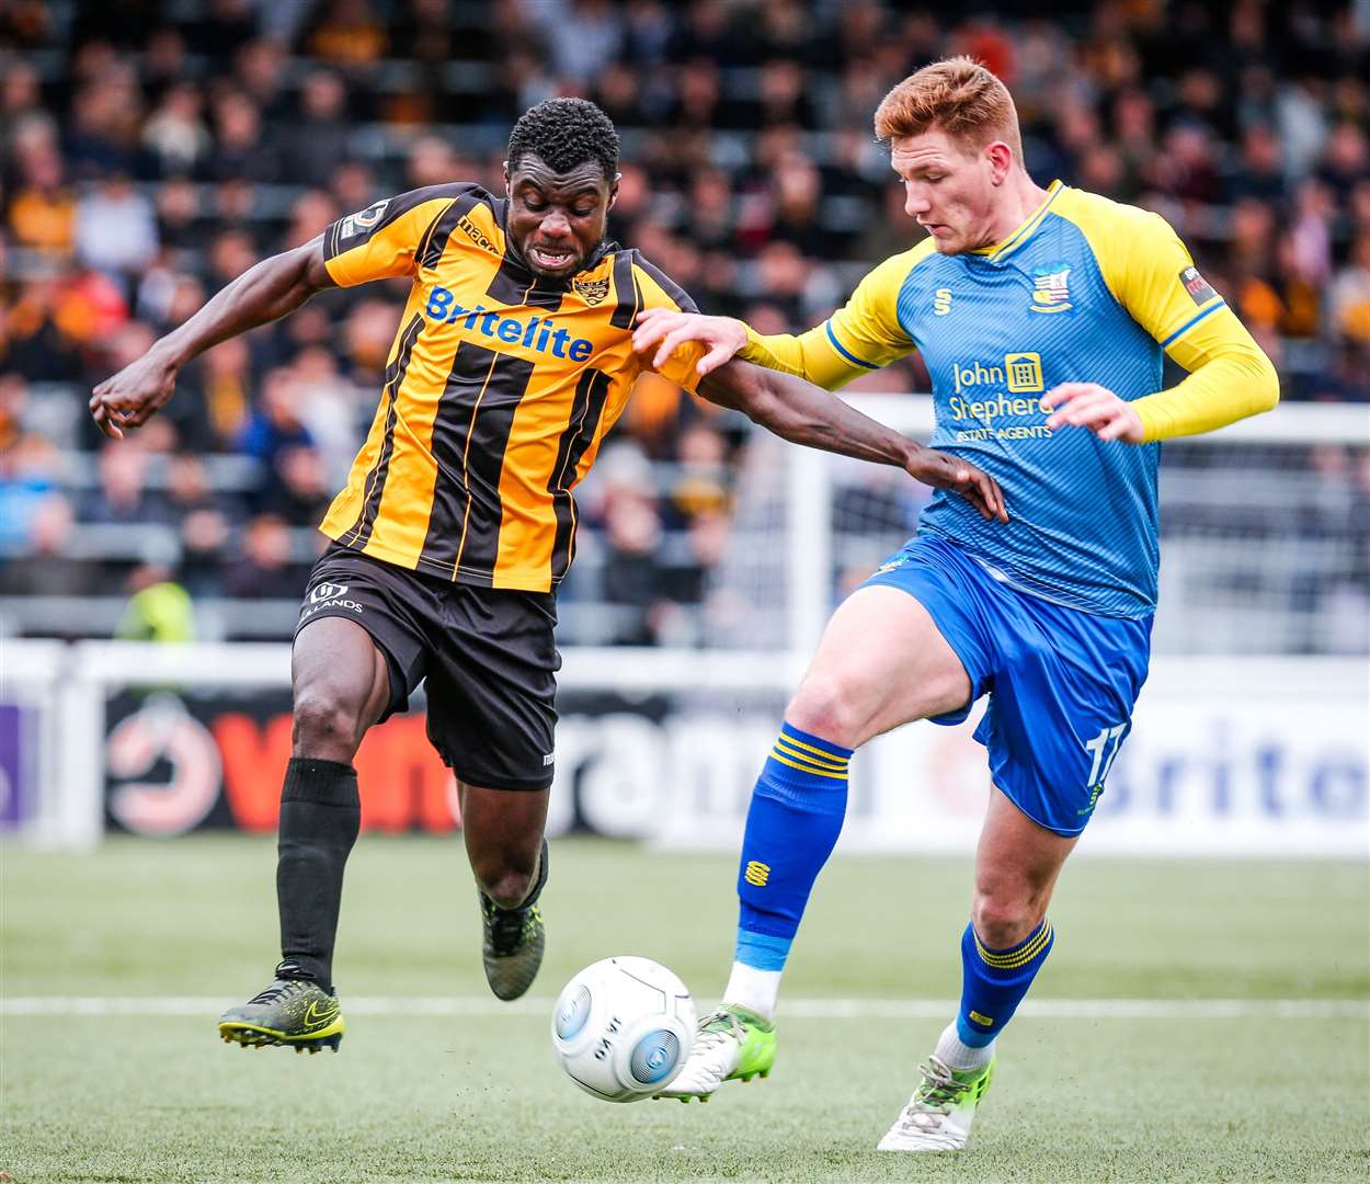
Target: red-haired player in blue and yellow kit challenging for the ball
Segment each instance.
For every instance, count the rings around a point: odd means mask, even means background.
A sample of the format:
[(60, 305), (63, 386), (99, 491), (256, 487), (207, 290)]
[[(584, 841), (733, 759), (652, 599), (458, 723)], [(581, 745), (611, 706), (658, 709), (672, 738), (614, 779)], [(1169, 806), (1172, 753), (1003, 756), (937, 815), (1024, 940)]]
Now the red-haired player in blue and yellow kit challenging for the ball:
[[(662, 310), (636, 344), (664, 359), (704, 343), (701, 371), (736, 355), (829, 389), (918, 349), (933, 447), (995, 477), (1011, 521), (934, 495), (918, 534), (833, 615), (752, 795), (723, 1004), (666, 1092), (707, 1098), (769, 1073), (781, 970), (841, 829), (852, 751), (912, 719), (956, 724), (988, 693), (975, 739), (993, 788), (960, 1006), (880, 1142), (959, 1150), (1147, 677), (1159, 441), (1269, 410), (1278, 380), (1162, 218), (1033, 182), (989, 70), (919, 70), (884, 99), (875, 134), (926, 238), (797, 337)], [(1162, 389), (1166, 355), (1189, 374)]]

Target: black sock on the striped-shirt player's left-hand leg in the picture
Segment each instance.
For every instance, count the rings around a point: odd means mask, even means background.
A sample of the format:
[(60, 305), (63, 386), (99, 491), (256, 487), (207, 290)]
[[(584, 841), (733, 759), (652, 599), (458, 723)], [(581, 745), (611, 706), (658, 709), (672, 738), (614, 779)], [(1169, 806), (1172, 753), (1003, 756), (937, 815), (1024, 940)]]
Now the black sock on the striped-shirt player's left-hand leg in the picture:
[(333, 988), (342, 869), (360, 821), (362, 799), (351, 765), (290, 758), (281, 791), (275, 865), (281, 957), (326, 991)]

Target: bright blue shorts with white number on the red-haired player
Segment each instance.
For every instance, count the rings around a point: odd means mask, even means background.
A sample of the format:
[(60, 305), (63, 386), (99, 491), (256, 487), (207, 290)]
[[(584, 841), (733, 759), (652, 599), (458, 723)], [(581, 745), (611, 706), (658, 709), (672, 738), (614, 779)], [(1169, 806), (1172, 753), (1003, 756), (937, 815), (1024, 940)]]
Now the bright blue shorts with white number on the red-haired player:
[[(1147, 681), (1151, 617), (1100, 617), (1019, 592), (936, 534), (911, 539), (862, 587), (874, 584), (918, 600), (966, 667), (971, 702), (989, 695), (975, 739), (995, 785), (1048, 830), (1084, 830)], [(970, 703), (933, 722), (969, 714)]]

